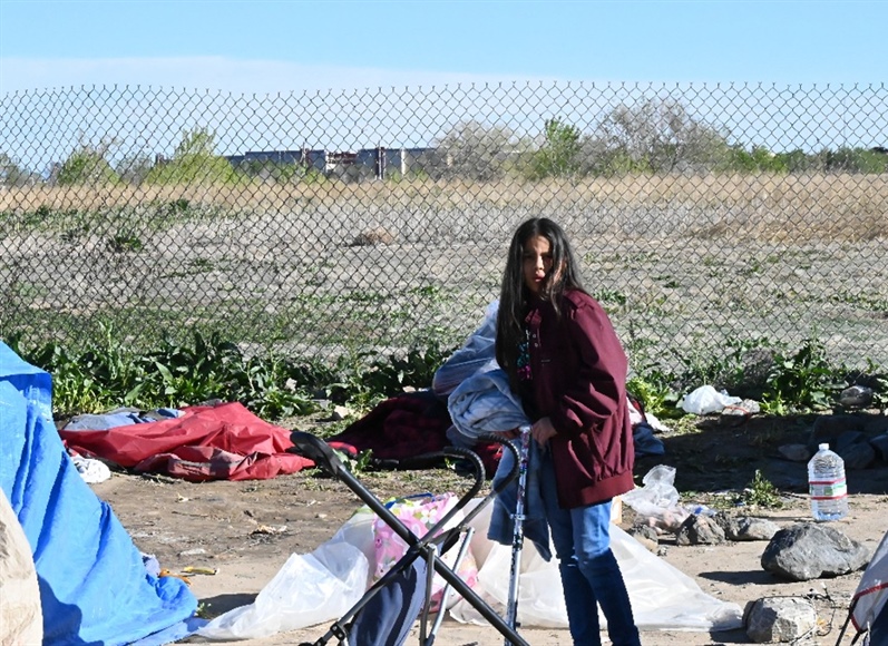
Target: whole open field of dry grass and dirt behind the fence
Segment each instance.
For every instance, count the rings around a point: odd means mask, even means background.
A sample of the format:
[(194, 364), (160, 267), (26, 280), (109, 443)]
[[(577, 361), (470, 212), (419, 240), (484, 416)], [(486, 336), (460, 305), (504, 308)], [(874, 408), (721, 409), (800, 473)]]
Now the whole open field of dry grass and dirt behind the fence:
[(545, 215), (640, 361), (811, 336), (888, 360), (884, 175), (22, 187), (0, 213), (4, 329), (453, 344), (496, 297), (510, 232)]

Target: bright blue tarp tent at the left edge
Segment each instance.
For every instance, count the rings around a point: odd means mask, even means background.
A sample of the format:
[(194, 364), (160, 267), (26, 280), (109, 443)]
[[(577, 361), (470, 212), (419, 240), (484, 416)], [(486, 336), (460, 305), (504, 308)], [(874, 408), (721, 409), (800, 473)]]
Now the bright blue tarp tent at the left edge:
[(197, 599), (180, 579), (145, 569), (129, 534), (68, 457), (51, 397), (50, 375), (0, 342), (0, 489), (33, 554), (43, 644), (185, 636)]

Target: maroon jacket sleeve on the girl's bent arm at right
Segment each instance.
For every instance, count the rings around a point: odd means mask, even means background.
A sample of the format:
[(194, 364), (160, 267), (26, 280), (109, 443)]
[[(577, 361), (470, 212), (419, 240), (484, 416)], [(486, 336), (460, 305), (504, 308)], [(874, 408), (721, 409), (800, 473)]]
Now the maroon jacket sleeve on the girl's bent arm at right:
[(607, 313), (585, 294), (564, 311), (564, 333), (575, 353), (576, 379), (565, 383), (550, 414), (558, 432), (601, 431), (626, 398), (627, 360)]

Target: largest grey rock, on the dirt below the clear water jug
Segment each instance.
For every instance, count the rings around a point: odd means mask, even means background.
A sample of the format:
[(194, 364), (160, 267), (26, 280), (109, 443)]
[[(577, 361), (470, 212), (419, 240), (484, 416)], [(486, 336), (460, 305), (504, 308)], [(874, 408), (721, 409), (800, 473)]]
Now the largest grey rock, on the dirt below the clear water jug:
[(806, 522), (778, 531), (764, 548), (761, 564), (778, 577), (807, 581), (862, 569), (869, 556), (865, 546), (838, 529)]

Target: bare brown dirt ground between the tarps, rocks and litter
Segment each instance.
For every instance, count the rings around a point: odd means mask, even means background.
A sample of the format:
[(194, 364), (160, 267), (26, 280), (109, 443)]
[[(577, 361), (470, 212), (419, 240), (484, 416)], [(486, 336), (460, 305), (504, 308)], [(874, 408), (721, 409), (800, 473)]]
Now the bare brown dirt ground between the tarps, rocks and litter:
[[(878, 415), (878, 412), (860, 414)], [(758, 470), (780, 490), (783, 507), (734, 506), (732, 513), (768, 517), (781, 527), (809, 520), (806, 464), (782, 459), (777, 448), (807, 441), (812, 419), (701, 418), (696, 432), (660, 435), (666, 454), (638, 459), (636, 482), (641, 483), (654, 466), (669, 464), (676, 469), (675, 486), (684, 502), (714, 507), (730, 503)], [(442, 469), (362, 473), (360, 479), (380, 498), (461, 491), (466, 484), (465, 479)], [(888, 466), (881, 462), (866, 470), (849, 470), (848, 481), (850, 515), (832, 525), (871, 552), (888, 530)], [(344, 484), (314, 470), (273, 480), (205, 483), (115, 471), (109, 480), (92, 488), (110, 503), (138, 548), (155, 555), (160, 567), (174, 574), (183, 574), (188, 566), (215, 570), (214, 575), (188, 576), (202, 610), (209, 617), (251, 604), (291, 554), (311, 552), (360, 507), (360, 500)], [(634, 516), (624, 506), (621, 526), (628, 529)], [(765, 545), (759, 541), (679, 546), (674, 538), (661, 538), (656, 550), (661, 558), (693, 577), (704, 593), (741, 608), (764, 597), (808, 596), (818, 609), (819, 634), (803, 643), (837, 644), (860, 572), (802, 583), (783, 581), (760, 565)], [(272, 646), (314, 642), (330, 624), (324, 621), (241, 643)], [(418, 635), (417, 630), (414, 634)], [(520, 634), (535, 646), (570, 644), (566, 629), (523, 627)], [(642, 642), (645, 646), (751, 643), (743, 629), (712, 634), (644, 632)], [(411, 643), (418, 639), (411, 637), (408, 644)], [(436, 639), (440, 646), (497, 643), (502, 643), (502, 638), (494, 628), (462, 625), (452, 619), (445, 621)], [(850, 643), (851, 635), (846, 634), (841, 644)]]

